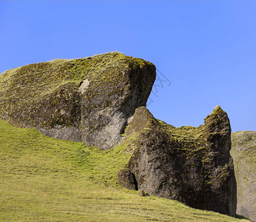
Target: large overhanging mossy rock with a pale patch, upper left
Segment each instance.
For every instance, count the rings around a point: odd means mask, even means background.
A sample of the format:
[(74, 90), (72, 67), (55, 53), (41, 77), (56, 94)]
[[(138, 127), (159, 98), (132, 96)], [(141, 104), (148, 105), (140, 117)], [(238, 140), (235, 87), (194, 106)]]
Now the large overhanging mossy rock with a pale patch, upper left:
[(154, 64), (122, 53), (29, 64), (0, 75), (0, 117), (110, 149), (145, 106), (155, 77)]

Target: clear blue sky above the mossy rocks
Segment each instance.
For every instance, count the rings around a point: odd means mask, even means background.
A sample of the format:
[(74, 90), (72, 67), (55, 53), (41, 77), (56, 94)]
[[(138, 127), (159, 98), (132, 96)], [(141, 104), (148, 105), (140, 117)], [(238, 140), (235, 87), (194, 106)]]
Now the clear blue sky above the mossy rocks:
[(156, 118), (197, 127), (221, 105), (256, 131), (255, 1), (0, 1), (0, 73), (113, 51), (160, 70)]

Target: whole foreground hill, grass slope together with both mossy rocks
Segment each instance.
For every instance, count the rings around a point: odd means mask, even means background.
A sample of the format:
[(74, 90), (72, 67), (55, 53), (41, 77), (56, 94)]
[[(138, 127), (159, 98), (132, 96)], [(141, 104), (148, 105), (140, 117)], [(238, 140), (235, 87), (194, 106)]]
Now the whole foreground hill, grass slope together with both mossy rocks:
[(157, 120), (155, 78), (116, 52), (2, 73), (0, 221), (241, 220), (228, 115)]

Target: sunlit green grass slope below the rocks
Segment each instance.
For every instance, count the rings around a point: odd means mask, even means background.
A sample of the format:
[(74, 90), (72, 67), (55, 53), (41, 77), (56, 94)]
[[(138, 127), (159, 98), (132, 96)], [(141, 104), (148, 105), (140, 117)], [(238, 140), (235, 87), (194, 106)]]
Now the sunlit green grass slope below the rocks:
[(102, 151), (0, 120), (0, 221), (241, 221), (122, 189), (115, 177), (130, 157), (124, 149)]

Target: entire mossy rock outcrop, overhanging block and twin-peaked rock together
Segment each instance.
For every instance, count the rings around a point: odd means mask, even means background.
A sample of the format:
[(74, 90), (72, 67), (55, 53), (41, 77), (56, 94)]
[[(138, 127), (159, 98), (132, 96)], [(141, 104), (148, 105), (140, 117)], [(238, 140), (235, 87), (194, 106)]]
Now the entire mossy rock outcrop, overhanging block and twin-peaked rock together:
[(144, 107), (155, 78), (154, 64), (121, 53), (30, 64), (0, 75), (0, 117), (86, 146), (124, 145), (121, 186), (234, 216), (226, 112), (216, 107), (197, 128), (165, 124)]

